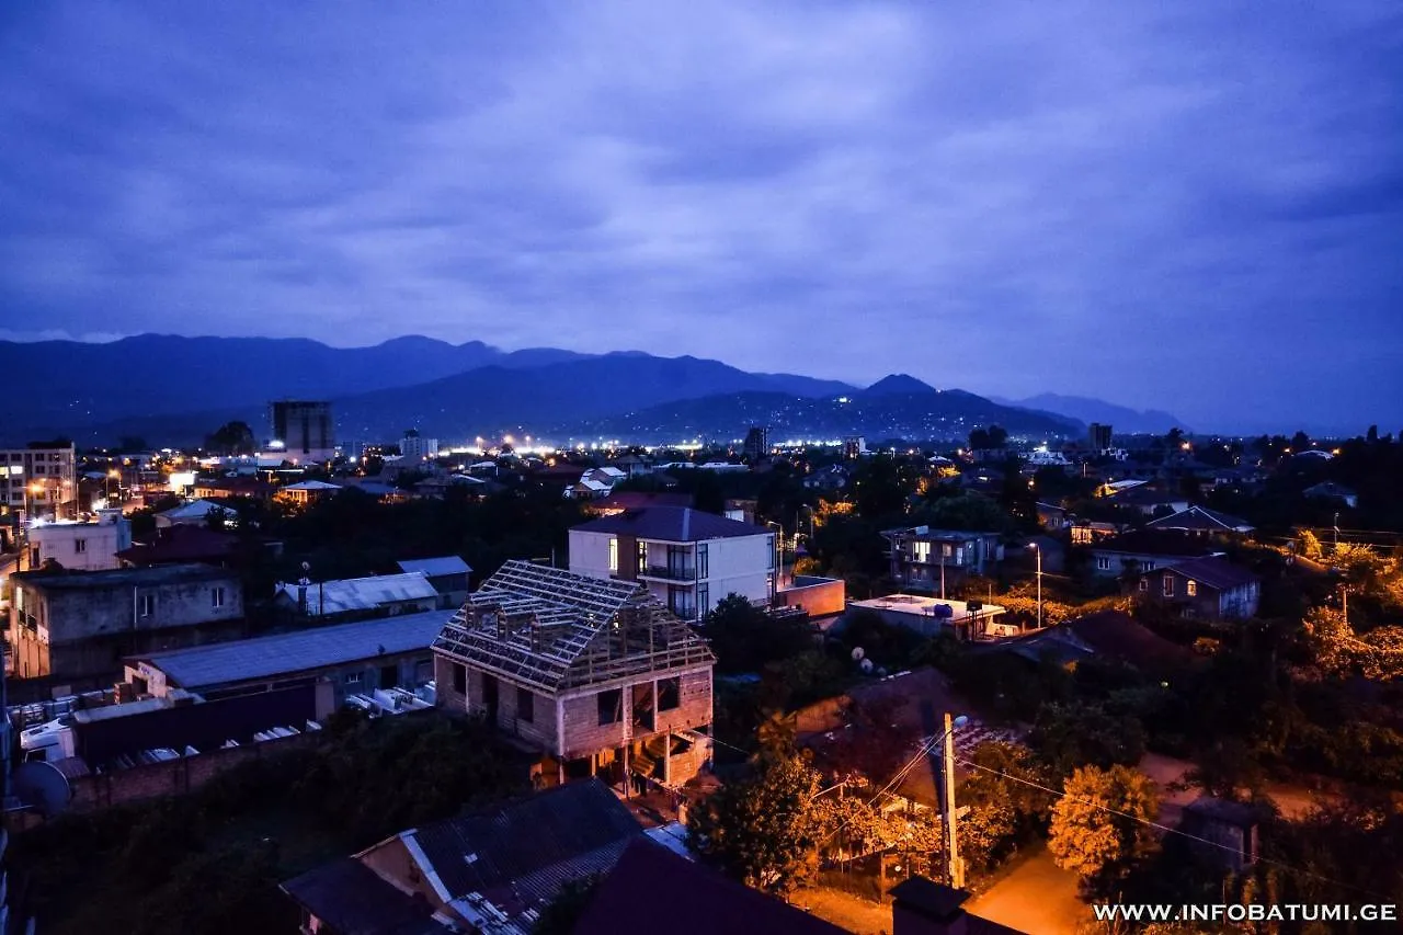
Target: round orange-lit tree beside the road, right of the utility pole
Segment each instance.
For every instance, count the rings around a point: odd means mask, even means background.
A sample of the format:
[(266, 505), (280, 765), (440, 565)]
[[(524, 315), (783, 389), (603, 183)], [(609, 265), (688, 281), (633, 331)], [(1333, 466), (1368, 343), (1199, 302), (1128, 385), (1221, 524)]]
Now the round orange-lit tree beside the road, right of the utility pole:
[(1159, 813), (1155, 783), (1128, 767), (1083, 767), (1052, 806), (1048, 851), (1063, 870), (1096, 893), (1108, 893), (1157, 844), (1146, 824)]

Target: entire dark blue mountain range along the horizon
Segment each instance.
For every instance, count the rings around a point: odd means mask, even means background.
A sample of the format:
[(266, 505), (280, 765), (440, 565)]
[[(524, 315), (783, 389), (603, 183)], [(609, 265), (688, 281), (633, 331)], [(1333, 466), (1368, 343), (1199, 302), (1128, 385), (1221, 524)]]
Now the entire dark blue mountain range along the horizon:
[[(991, 423), (1051, 438), (1080, 435), (1085, 413), (1134, 430), (1118, 416), (1132, 410), (1100, 400), (1040, 396), (1010, 406), (899, 373), (860, 389), (694, 357), (501, 351), (425, 337), (363, 348), (159, 334), (109, 344), (0, 341), (0, 368), (13, 390), (24, 389), (0, 403), (7, 444), (67, 435), (104, 446), (128, 435), (189, 445), (231, 420), (262, 434), (274, 399), (331, 400), (347, 441), (394, 439), (405, 428), (445, 442), (506, 432), (676, 441), (732, 438), (752, 424), (770, 425), (776, 438), (958, 439)], [(1139, 416), (1163, 417), (1156, 431), (1176, 424), (1162, 413)]]

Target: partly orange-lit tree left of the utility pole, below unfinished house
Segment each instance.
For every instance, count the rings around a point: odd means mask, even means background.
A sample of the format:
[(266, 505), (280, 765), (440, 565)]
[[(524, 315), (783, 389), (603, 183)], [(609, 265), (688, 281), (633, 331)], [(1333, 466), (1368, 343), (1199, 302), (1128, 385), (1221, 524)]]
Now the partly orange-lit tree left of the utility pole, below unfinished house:
[(687, 811), (687, 840), (727, 876), (783, 894), (818, 872), (819, 775), (793, 754), (763, 755), (755, 765), (751, 776)]

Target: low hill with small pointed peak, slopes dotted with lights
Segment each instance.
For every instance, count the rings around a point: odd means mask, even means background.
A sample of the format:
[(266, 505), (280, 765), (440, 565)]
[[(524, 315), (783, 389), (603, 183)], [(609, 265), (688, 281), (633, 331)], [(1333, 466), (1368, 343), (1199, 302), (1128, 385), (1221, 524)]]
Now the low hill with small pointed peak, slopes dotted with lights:
[(739, 438), (748, 425), (769, 425), (770, 438), (838, 439), (846, 435), (958, 442), (978, 427), (999, 424), (1010, 435), (1068, 438), (1086, 427), (1059, 416), (1000, 406), (964, 390), (861, 392), (836, 397), (741, 392), (679, 400), (592, 420), (577, 437), (669, 442), (685, 438)]

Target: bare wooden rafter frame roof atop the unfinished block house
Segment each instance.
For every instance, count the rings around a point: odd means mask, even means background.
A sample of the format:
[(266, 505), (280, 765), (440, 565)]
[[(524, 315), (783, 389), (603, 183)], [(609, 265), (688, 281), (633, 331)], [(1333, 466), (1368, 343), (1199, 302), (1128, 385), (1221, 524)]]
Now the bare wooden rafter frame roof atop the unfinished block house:
[(615, 678), (716, 661), (647, 585), (521, 560), (469, 595), (434, 649), (547, 692), (593, 681), (596, 656)]

